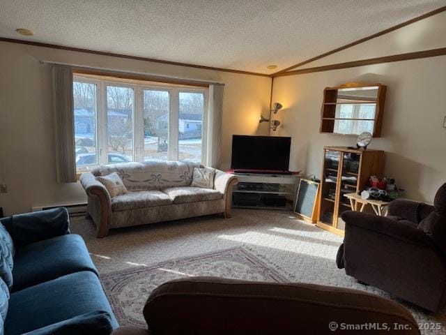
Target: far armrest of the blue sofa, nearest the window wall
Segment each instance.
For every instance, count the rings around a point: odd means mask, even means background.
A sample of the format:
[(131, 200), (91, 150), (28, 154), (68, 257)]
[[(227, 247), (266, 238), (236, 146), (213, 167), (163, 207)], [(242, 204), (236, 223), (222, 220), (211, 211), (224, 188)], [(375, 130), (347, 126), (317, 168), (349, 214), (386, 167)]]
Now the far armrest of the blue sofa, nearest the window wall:
[(3, 225), (17, 248), (70, 233), (70, 218), (65, 207), (13, 215)]

